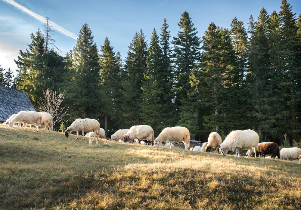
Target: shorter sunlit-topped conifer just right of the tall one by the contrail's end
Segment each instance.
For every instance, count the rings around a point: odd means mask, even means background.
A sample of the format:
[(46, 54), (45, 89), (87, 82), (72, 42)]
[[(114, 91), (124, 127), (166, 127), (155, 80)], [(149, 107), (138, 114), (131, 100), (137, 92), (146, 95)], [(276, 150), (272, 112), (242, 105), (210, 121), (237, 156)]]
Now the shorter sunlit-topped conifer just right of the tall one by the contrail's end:
[(119, 63), (120, 55), (116, 56), (109, 39), (106, 37), (101, 46), (100, 75), (101, 75), (101, 104), (104, 115), (104, 130), (117, 129), (118, 114), (121, 112), (121, 70)]

